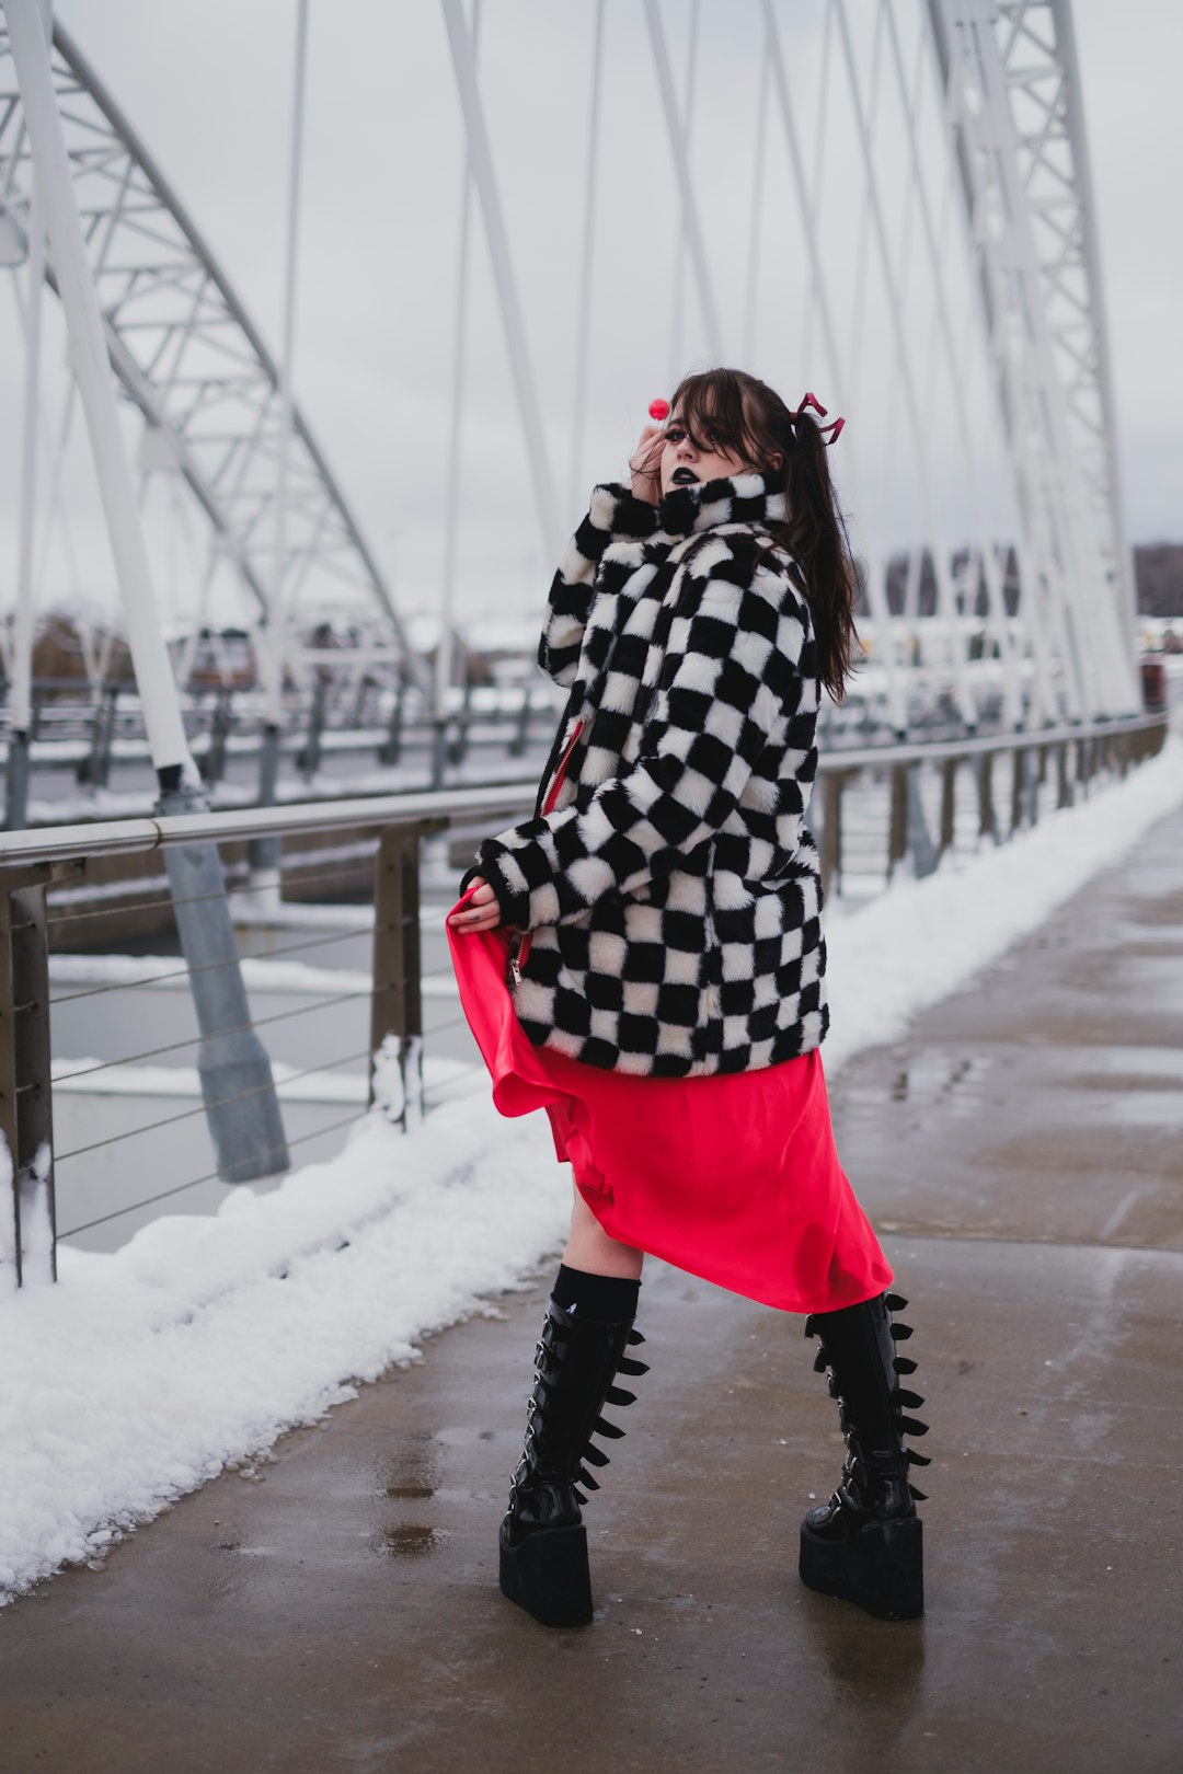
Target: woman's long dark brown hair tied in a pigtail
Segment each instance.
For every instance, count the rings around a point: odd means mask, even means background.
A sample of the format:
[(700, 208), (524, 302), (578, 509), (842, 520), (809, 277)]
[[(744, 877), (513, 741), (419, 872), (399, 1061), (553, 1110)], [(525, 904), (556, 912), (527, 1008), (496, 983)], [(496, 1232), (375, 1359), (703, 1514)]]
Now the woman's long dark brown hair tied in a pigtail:
[[(793, 412), (766, 381), (741, 369), (683, 376), (674, 392), (672, 415), (693, 438), (709, 435), (717, 449), (741, 456), (764, 475), (780, 475), (786, 514), (784, 522), (768, 529), (805, 577), (818, 676), (841, 703), (857, 639), (858, 580), (818, 424), (807, 412)], [(784, 458), (780, 470), (772, 467), (775, 456)]]

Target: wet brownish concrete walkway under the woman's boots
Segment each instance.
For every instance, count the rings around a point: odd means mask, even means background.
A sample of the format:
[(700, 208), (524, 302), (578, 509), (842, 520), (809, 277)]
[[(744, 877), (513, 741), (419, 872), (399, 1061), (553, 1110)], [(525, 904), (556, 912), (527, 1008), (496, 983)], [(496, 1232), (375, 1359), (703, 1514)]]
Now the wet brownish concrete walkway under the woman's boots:
[(796, 1581), (802, 1322), (654, 1265), (591, 1629), (495, 1590), (539, 1284), (0, 1614), (0, 1767), (1179, 1774), (1183, 814), (834, 1107), (913, 1302), (922, 1621)]

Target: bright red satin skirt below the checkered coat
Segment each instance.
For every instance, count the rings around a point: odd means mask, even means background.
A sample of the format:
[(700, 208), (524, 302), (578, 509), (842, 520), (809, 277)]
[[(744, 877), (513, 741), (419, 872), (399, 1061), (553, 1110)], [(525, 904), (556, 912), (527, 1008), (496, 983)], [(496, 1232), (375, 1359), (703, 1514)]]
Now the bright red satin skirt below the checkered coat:
[(706, 1079), (585, 1066), (521, 1029), (504, 931), (447, 935), (493, 1103), (504, 1116), (546, 1111), (559, 1162), (610, 1238), (795, 1313), (857, 1306), (890, 1284), (837, 1160), (818, 1048)]

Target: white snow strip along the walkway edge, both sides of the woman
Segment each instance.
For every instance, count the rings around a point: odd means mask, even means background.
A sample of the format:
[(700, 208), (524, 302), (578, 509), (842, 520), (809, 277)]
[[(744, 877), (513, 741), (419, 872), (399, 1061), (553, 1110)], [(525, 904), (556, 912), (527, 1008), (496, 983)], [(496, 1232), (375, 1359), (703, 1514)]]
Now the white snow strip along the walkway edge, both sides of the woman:
[[(1183, 742), (1121, 788), (830, 919), (830, 1077), (1034, 930), (1183, 804)], [(227, 1464), (314, 1421), (560, 1244), (569, 1185), (544, 1118), (463, 1114), (401, 1134), (380, 1109), (278, 1190), (170, 1215), (112, 1254), (60, 1251), (60, 1284), (0, 1300), (0, 1598)]]

